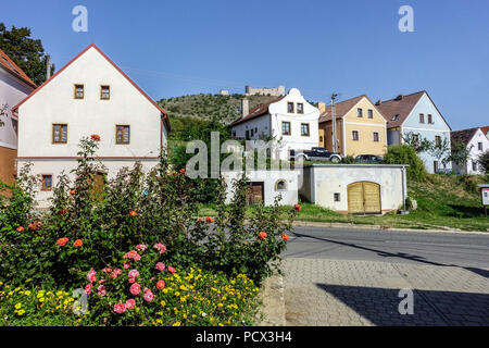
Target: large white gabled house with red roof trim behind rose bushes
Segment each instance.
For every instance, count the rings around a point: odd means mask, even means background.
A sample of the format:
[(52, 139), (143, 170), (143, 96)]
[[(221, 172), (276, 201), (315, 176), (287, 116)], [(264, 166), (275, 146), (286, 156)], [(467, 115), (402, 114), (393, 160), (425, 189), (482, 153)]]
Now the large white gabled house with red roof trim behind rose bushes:
[(96, 45), (88, 46), (13, 108), (18, 115), (17, 169), (34, 164), (42, 178), (38, 201), (51, 197), (58, 175), (76, 166), (83, 137), (100, 136), (98, 159), (113, 177), (140, 161), (154, 166), (166, 146), (165, 111)]

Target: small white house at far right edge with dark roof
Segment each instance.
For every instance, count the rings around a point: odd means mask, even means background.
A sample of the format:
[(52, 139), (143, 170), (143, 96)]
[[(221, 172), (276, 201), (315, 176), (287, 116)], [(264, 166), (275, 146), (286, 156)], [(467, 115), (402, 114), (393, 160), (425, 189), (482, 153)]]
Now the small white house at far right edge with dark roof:
[(484, 134), (482, 128), (469, 128), (463, 130), (455, 130), (450, 134), (452, 144), (462, 142), (469, 149), (469, 157), (467, 163), (460, 167), (453, 163), (453, 169), (457, 174), (484, 174), (478, 165), (478, 158), (480, 154), (489, 150), (489, 139)]

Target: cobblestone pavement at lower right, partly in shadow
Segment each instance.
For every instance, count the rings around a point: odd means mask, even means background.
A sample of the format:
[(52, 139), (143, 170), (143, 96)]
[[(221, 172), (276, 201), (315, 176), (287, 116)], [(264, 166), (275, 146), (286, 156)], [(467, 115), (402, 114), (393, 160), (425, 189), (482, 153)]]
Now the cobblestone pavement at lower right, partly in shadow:
[[(489, 325), (489, 270), (377, 261), (283, 263), (287, 325)], [(400, 289), (413, 314), (400, 314)]]

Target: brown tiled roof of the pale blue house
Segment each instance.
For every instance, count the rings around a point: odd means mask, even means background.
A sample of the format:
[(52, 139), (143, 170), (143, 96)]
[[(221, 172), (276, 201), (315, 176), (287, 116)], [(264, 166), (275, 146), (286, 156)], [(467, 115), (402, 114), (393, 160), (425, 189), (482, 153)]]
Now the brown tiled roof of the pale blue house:
[(375, 105), (386, 119), (388, 128), (398, 127), (409, 116), (423, 94), (425, 94), (424, 90), (408, 96), (400, 95), (394, 99), (377, 102)]

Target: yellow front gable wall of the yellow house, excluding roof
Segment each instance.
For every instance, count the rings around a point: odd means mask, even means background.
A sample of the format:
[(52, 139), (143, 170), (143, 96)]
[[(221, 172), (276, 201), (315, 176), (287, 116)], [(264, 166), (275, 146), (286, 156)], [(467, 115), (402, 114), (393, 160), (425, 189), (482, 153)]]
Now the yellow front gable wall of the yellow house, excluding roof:
[[(363, 116), (356, 115), (356, 109), (363, 109)], [(368, 119), (368, 109), (373, 110), (373, 119)], [(344, 116), (347, 156), (385, 154), (387, 152), (386, 121), (367, 98), (362, 98)], [(354, 124), (352, 124), (354, 123)], [(352, 130), (359, 130), (359, 140), (353, 140)], [(374, 141), (373, 133), (378, 133), (378, 141)]]

